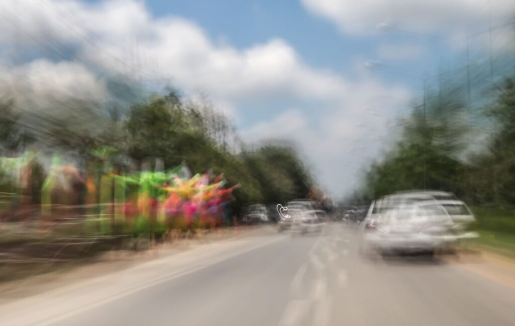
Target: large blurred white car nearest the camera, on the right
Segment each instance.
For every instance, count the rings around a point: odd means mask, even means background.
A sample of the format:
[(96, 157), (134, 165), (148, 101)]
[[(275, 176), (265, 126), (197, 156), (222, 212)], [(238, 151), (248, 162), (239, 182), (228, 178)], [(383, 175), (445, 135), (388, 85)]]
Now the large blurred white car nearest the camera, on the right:
[(434, 200), (392, 208), (367, 217), (361, 227), (360, 251), (434, 254), (457, 241), (455, 224)]

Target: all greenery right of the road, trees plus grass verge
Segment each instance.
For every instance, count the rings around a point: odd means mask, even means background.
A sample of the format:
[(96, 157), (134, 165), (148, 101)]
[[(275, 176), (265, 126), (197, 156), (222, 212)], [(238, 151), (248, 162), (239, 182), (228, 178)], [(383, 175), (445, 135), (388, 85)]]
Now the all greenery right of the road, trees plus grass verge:
[(425, 112), (424, 104), (413, 105), (399, 140), (366, 171), (354, 199), (408, 189), (453, 192), (473, 208), (481, 242), (515, 253), (515, 83), (491, 84), (476, 107), (459, 94), (428, 94)]

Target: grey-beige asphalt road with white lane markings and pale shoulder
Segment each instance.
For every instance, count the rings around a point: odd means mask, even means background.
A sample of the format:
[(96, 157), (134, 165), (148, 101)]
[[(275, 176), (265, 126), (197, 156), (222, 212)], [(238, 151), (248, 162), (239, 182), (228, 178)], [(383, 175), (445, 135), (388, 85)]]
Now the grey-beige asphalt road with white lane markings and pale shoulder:
[(362, 259), (354, 229), (262, 229), (0, 305), (2, 325), (510, 325), (515, 287), (435, 258)]

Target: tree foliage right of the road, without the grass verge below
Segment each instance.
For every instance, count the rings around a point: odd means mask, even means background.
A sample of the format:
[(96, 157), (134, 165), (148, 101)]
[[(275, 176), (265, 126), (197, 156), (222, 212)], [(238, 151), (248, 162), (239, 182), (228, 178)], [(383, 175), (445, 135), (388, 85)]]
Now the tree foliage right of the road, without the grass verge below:
[(507, 79), (485, 101), (483, 116), (491, 119), (494, 132), (479, 154), (464, 155), (470, 146), (470, 128), (461, 101), (439, 97), (428, 101), (439, 105), (428, 107), (427, 115), (414, 107), (404, 119), (400, 140), (369, 168), (365, 196), (373, 199), (399, 190), (426, 188), (451, 191), (475, 204), (515, 203), (513, 81)]

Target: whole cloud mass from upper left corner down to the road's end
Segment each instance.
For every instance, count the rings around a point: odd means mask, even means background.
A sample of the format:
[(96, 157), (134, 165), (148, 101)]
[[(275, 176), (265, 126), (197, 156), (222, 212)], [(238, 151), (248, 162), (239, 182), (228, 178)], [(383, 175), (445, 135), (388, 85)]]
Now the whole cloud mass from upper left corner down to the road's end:
[(32, 94), (70, 92), (101, 100), (107, 91), (98, 73), (114, 71), (147, 83), (170, 79), (186, 95), (193, 95), (192, 100), (198, 100), (196, 94), (208, 94), (229, 115), (244, 109), (238, 108), (241, 100), (291, 98), (296, 107), (308, 100), (317, 105), (316, 119), (300, 109), (280, 111), (271, 121), (244, 130), (243, 136), (251, 141), (296, 141), (317, 167), (322, 183), (335, 194), (349, 190), (359, 163), (380, 151), (377, 136), (384, 135), (387, 126), (366, 107), (386, 116), (395, 112), (396, 105), (373, 103), (370, 96), (408, 96), (405, 90), (377, 80), (362, 76), (348, 80), (313, 68), (281, 39), (244, 49), (214, 42), (192, 21), (152, 17), (140, 1), (13, 0), (0, 2), (0, 12), (10, 19), (0, 19), (0, 53), (10, 56), (3, 61), (15, 61), (16, 52), (5, 51), (13, 40), (27, 53), (59, 52), (70, 57), (70, 62), (40, 60), (7, 71), (6, 76), (13, 71), (25, 76)]

